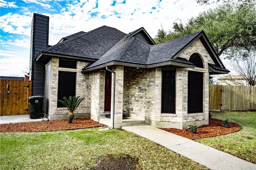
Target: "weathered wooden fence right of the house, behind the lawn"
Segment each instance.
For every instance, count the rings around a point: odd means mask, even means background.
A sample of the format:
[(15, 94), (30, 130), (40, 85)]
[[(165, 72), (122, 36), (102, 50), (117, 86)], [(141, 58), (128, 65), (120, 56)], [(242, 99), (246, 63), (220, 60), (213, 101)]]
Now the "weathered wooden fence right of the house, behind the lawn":
[(210, 84), (209, 110), (256, 110), (256, 86)]

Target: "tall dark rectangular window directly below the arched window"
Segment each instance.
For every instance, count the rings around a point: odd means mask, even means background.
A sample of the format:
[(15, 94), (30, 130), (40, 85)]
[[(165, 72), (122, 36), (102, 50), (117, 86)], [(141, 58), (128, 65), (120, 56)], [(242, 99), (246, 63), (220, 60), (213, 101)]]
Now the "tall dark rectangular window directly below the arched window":
[(188, 113), (203, 112), (203, 73), (188, 72)]

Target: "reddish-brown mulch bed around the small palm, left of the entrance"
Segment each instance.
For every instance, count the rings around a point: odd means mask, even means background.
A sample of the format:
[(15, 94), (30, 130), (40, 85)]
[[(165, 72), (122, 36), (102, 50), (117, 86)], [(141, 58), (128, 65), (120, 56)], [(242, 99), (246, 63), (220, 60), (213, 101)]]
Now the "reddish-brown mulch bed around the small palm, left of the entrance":
[(68, 120), (52, 120), (32, 123), (1, 124), (0, 132), (60, 131), (100, 126), (105, 125), (93, 121), (92, 119), (74, 119), (73, 123), (68, 123)]

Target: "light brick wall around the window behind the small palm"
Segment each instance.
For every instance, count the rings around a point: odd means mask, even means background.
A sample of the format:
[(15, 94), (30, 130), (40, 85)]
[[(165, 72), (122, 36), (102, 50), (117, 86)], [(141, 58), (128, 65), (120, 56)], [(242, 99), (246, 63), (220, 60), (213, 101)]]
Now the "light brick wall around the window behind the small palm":
[[(85, 99), (80, 103), (79, 107), (76, 109), (75, 118), (87, 118), (89, 116), (89, 105), (88, 105), (88, 85), (86, 85), (86, 75), (84, 75), (81, 70), (87, 62), (77, 61), (77, 68), (59, 68), (59, 58), (52, 57), (51, 59), (51, 72), (50, 72), (50, 98), (48, 118), (50, 120), (61, 120), (68, 119), (68, 109), (57, 108), (58, 101), (58, 72), (76, 72), (76, 96), (85, 97)], [(68, 81), (68, 78), (67, 78)], [(44, 99), (46, 100), (46, 99)]]

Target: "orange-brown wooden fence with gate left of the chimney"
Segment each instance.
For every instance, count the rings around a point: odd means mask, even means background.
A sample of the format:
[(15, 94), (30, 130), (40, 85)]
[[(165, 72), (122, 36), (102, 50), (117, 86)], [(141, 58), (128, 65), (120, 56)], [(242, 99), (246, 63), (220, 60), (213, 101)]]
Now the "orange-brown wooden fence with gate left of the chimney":
[(32, 82), (24, 80), (1, 80), (0, 115), (28, 114), (28, 96)]

